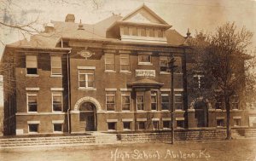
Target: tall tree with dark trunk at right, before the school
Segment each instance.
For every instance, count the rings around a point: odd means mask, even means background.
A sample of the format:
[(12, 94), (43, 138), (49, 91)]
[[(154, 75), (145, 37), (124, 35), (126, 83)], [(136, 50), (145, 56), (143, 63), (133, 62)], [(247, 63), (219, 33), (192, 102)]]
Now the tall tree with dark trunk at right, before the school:
[[(235, 23), (219, 26), (212, 35), (198, 34), (191, 41), (195, 57), (195, 68), (203, 71), (207, 78), (207, 91), (213, 95), (218, 91), (226, 110), (226, 139), (231, 139), (230, 109), (234, 95), (239, 95), (240, 105), (245, 106), (245, 90), (253, 90), (255, 75), (250, 72), (255, 59), (247, 55), (253, 33), (246, 28), (238, 30)], [(250, 87), (250, 88), (247, 88)]]

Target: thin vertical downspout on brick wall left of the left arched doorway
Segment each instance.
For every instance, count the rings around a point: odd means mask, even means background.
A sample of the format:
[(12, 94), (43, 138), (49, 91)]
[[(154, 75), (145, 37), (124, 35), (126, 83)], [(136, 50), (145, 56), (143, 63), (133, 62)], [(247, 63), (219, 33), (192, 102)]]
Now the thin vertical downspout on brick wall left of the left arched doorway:
[[(62, 40), (61, 40), (62, 41)], [(70, 60), (69, 60), (69, 55), (71, 54), (71, 50), (69, 50), (69, 52), (67, 53), (67, 130), (68, 130), (68, 134), (71, 134), (71, 117), (70, 117), (70, 110), (71, 110), (71, 93), (70, 93)]]

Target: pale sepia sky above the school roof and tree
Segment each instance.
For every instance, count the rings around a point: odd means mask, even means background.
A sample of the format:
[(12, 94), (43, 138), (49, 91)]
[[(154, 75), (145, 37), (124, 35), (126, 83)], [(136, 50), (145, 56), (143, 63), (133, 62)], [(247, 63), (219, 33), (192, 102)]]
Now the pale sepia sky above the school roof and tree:
[[(253, 32), (249, 50), (256, 49), (256, 0), (0, 0), (0, 21), (26, 24), (37, 20), (35, 27), (44, 30), (45, 23), (64, 21), (67, 14), (75, 14), (76, 22), (91, 24), (112, 14), (125, 16), (143, 3), (183, 36), (188, 28), (193, 36), (195, 31), (212, 33), (234, 21), (239, 29), (245, 26)], [(5, 44), (22, 38), (19, 31), (0, 28), (0, 56)]]

